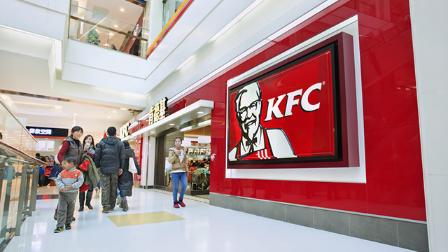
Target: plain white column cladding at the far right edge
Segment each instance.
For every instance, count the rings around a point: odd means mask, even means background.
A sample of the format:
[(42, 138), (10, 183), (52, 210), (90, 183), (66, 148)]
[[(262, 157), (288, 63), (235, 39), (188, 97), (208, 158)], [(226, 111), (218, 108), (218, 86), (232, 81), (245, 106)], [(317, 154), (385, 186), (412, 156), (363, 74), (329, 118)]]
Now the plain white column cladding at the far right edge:
[(430, 251), (448, 251), (448, 1), (410, 0)]

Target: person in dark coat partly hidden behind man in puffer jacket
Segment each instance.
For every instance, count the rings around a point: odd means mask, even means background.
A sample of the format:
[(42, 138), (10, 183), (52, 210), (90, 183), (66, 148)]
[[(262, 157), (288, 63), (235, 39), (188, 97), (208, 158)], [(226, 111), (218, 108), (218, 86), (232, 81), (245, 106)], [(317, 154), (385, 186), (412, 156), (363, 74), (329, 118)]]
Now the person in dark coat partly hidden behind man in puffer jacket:
[(126, 197), (132, 196), (132, 185), (134, 184), (134, 174), (129, 171), (129, 161), (130, 158), (134, 160), (135, 167), (137, 168), (137, 176), (140, 179), (141, 169), (139, 166), (139, 162), (137, 162), (137, 158), (135, 158), (134, 150), (130, 147), (128, 141), (123, 141), (123, 145), (125, 146), (125, 169), (123, 169), (123, 173), (118, 176), (118, 190), (120, 190), (121, 203), (120, 207), (123, 211), (129, 210), (129, 206), (127, 204)]

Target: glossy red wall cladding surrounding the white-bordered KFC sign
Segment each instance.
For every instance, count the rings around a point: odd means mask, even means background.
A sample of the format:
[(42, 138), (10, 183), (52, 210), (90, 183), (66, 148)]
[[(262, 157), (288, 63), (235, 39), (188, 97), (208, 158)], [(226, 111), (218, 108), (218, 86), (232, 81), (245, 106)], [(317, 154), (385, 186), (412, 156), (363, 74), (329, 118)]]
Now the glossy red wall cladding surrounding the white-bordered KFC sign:
[[(225, 93), (228, 79), (358, 14), (367, 183), (225, 179)], [(333, 5), (169, 107), (215, 102), (211, 119), (211, 192), (426, 221), (407, 0)]]

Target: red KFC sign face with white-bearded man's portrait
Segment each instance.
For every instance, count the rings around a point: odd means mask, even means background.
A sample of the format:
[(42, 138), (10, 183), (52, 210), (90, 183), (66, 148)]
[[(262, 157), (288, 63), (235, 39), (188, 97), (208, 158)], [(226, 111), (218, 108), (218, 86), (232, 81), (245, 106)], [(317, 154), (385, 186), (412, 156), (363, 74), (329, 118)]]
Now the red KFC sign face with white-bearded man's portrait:
[(339, 158), (335, 45), (230, 87), (230, 165)]

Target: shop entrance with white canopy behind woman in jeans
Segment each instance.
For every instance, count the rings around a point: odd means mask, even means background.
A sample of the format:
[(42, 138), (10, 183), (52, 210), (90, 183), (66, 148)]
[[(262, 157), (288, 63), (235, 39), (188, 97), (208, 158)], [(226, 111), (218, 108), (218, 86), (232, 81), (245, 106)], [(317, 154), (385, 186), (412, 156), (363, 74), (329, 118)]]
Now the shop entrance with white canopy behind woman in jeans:
[[(167, 101), (164, 101), (167, 102)], [(167, 105), (169, 102), (167, 102)], [(160, 106), (160, 103), (155, 106)], [(162, 106), (162, 109), (168, 106)], [(172, 114), (169, 109), (150, 109), (138, 123), (130, 125), (131, 137), (137, 138), (136, 150), (141, 149), (141, 186), (172, 191), (169, 148), (174, 147), (176, 137), (183, 139), (188, 162), (188, 195), (208, 195), (210, 186), (211, 111), (214, 102), (199, 100)], [(169, 114), (169, 116), (167, 116)], [(139, 144), (140, 143), (140, 144)], [(141, 146), (141, 147), (139, 147)], [(137, 151), (136, 151), (137, 153)], [(147, 155), (145, 155), (147, 153)]]

